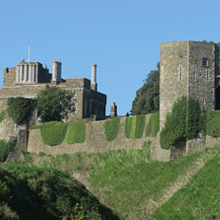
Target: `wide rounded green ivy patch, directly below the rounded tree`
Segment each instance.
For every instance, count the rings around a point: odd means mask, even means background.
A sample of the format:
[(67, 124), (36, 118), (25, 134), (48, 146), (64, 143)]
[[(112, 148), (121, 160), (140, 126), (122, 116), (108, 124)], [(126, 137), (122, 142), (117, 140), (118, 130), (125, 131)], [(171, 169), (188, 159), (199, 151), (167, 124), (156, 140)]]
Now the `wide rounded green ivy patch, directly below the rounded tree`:
[(67, 124), (62, 122), (48, 122), (40, 125), (39, 127), (44, 144), (54, 146), (63, 142)]

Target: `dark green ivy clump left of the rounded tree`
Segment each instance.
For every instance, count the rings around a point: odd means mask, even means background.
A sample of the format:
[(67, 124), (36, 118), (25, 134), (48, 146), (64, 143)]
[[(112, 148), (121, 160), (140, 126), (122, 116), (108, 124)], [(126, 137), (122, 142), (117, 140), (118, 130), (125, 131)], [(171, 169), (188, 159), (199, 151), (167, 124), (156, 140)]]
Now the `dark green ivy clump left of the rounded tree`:
[(8, 99), (8, 115), (19, 125), (27, 121), (31, 112), (36, 107), (36, 100), (23, 97)]

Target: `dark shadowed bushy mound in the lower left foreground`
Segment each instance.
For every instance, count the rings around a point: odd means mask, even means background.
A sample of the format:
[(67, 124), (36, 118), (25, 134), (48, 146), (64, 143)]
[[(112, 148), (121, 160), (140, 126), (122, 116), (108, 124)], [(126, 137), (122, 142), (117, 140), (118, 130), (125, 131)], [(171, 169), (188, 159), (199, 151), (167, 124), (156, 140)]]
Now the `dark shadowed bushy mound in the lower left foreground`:
[[(71, 218), (72, 216), (72, 218)], [(0, 219), (118, 219), (61, 171), (0, 164)]]

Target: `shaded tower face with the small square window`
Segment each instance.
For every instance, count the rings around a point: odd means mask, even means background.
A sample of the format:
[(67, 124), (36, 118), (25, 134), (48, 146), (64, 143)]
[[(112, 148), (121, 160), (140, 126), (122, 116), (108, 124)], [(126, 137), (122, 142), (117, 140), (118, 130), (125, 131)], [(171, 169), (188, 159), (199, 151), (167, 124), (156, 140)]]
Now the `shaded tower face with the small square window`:
[[(203, 59), (208, 65), (203, 65)], [(215, 109), (215, 44), (189, 42), (188, 94), (200, 102), (203, 109)]]

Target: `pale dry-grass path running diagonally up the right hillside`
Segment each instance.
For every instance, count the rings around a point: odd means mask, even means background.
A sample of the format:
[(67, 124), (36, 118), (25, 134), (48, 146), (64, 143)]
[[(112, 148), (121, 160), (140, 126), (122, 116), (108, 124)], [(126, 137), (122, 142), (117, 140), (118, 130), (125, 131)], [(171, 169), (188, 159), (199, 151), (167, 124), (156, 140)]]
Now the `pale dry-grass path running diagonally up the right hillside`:
[(158, 201), (148, 199), (148, 205), (147, 207), (145, 207), (144, 210), (145, 216), (148, 216), (146, 219), (151, 219), (151, 215), (153, 214), (153, 212), (161, 205), (166, 203), (175, 192), (183, 188), (209, 160), (216, 156), (218, 152), (219, 149), (217, 148), (216, 150), (211, 151), (209, 154), (204, 154), (200, 158), (195, 160), (193, 166), (191, 166), (186, 172), (180, 175), (175, 181), (170, 183), (170, 186), (164, 190), (161, 198)]

